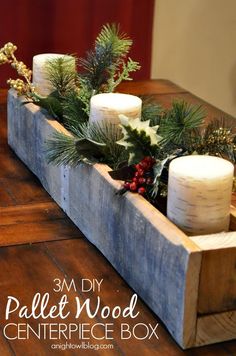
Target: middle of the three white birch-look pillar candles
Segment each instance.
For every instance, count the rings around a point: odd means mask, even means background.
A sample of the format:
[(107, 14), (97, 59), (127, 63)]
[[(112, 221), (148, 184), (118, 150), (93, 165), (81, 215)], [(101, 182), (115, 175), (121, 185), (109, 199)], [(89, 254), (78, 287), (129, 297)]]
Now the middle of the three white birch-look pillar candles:
[(142, 100), (134, 95), (103, 93), (92, 96), (90, 101), (90, 122), (106, 121), (120, 124), (119, 115), (129, 118), (141, 117)]

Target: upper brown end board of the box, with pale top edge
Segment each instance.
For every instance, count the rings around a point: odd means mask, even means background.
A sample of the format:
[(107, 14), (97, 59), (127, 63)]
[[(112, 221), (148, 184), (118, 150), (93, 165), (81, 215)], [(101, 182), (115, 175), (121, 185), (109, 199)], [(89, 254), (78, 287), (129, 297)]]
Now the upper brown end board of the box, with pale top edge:
[(198, 313), (236, 309), (236, 231), (192, 236), (191, 240), (203, 251)]

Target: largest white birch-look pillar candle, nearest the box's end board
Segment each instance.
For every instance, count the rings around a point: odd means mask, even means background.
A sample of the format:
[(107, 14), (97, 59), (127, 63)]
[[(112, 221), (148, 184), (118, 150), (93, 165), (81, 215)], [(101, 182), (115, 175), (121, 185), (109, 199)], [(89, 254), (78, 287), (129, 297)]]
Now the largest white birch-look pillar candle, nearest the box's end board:
[(169, 167), (167, 216), (189, 235), (228, 231), (234, 166), (212, 156), (185, 156)]

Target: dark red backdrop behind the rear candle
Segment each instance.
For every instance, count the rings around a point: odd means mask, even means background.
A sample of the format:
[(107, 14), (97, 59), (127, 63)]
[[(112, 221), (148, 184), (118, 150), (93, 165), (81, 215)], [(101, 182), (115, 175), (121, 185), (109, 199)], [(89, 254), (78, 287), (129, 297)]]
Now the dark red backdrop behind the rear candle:
[[(142, 65), (135, 79), (150, 77), (154, 0), (2, 0), (0, 47), (17, 45), (17, 57), (32, 66), (39, 53), (73, 53), (82, 57), (103, 24), (120, 24), (133, 39), (132, 59)], [(0, 87), (14, 77), (8, 66), (0, 67)]]

